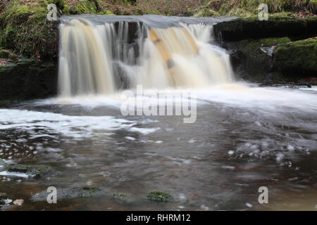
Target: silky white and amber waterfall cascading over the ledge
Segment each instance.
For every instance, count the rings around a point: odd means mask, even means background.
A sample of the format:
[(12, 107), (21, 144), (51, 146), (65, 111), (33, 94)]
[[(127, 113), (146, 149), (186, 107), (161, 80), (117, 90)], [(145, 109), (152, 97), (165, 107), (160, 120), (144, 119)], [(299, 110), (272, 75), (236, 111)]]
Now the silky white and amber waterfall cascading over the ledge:
[(61, 96), (111, 94), (137, 84), (166, 89), (232, 82), (228, 54), (211, 44), (213, 25), (192, 20), (158, 20), (156, 25), (156, 17), (146, 16), (111, 18), (62, 20), (58, 67)]

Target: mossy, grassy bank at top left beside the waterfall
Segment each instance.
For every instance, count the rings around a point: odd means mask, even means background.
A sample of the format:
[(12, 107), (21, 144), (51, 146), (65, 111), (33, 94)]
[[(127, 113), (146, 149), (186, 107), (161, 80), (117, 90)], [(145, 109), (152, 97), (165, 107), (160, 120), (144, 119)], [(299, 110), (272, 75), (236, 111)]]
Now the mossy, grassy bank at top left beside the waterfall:
[(34, 58), (56, 56), (57, 29), (46, 21), (46, 1), (13, 0), (0, 12), (0, 44)]

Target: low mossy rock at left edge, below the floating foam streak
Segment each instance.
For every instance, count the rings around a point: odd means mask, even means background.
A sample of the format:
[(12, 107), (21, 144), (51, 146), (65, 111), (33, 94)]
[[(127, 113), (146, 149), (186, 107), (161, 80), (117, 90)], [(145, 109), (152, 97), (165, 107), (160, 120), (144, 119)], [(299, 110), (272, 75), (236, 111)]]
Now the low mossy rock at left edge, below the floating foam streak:
[(8, 167), (8, 172), (18, 172), (27, 174), (30, 176), (40, 177), (46, 176), (53, 173), (53, 170), (46, 165), (11, 165)]

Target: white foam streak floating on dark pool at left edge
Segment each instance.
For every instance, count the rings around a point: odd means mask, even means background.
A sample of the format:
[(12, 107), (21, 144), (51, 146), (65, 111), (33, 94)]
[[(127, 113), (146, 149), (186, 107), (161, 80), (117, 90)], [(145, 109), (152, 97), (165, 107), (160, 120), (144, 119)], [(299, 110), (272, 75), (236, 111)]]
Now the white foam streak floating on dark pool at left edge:
[(0, 109), (0, 129), (51, 129), (64, 136), (84, 139), (116, 129), (147, 135), (159, 128), (134, 127), (135, 121), (110, 116), (73, 116), (29, 110)]

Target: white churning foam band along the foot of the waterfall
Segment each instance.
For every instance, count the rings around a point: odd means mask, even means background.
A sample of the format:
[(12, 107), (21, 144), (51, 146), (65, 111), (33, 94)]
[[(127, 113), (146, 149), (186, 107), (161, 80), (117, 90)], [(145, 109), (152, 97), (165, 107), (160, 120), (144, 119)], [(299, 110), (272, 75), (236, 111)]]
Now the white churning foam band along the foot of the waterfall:
[[(205, 105), (209, 103), (225, 103), (238, 108), (261, 109), (270, 113), (280, 113), (287, 110), (316, 113), (317, 110), (317, 94), (311, 89), (285, 89), (276, 87), (254, 87), (251, 84), (222, 84), (210, 86), (205, 89), (144, 89), (143, 96), (136, 96), (136, 99), (143, 98), (144, 101), (159, 100), (159, 94), (164, 94), (166, 101), (181, 102), (183, 101), (181, 93), (192, 93), (197, 96), (197, 105)], [(157, 93), (157, 98), (153, 93)], [(170, 98), (168, 98), (170, 96)], [(175, 98), (180, 96), (180, 98)], [(125, 101), (121, 93), (106, 96), (89, 95), (74, 97), (58, 97), (45, 101), (39, 101), (38, 104), (62, 104), (62, 105), (81, 105), (83, 107), (99, 107), (110, 106), (120, 108)], [(142, 101), (135, 101), (140, 103)], [(158, 104), (160, 101), (156, 101)], [(138, 105), (136, 105), (138, 107)], [(259, 124), (259, 122), (257, 123)], [(261, 125), (261, 124), (260, 124)]]

